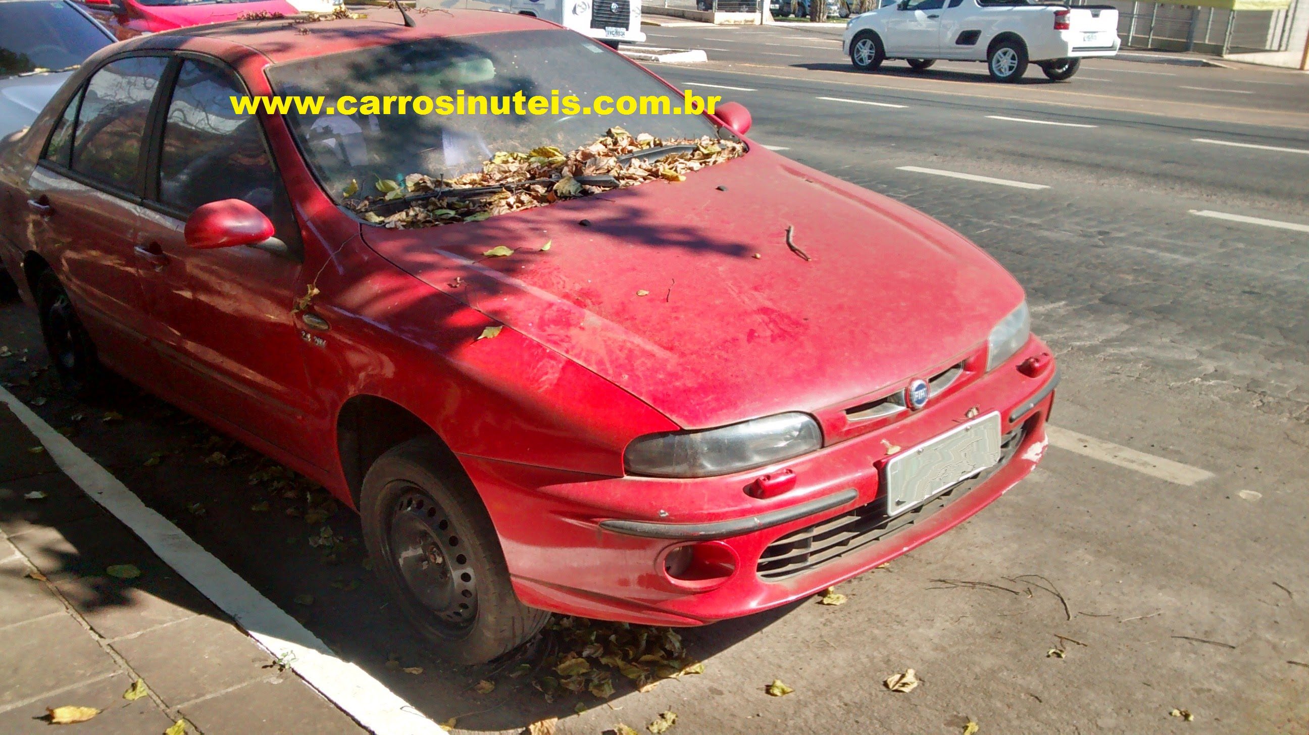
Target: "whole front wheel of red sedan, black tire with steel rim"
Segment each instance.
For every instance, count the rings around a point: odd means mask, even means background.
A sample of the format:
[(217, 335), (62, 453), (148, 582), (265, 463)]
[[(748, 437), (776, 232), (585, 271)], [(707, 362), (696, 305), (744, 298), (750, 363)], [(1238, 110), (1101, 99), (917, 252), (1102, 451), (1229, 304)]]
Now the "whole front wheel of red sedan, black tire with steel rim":
[(453, 462), (436, 437), (393, 447), (364, 476), (360, 519), (373, 569), (408, 621), (445, 658), (486, 663), (550, 613), (513, 594), (491, 517)]

